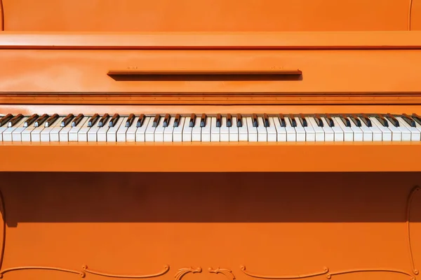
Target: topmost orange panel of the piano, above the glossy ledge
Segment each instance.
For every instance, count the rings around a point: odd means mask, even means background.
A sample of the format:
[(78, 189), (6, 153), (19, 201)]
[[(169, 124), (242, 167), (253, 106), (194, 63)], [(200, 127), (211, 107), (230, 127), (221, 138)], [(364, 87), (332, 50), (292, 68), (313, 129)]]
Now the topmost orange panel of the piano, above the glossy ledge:
[(3, 0), (11, 31), (407, 30), (402, 0)]

